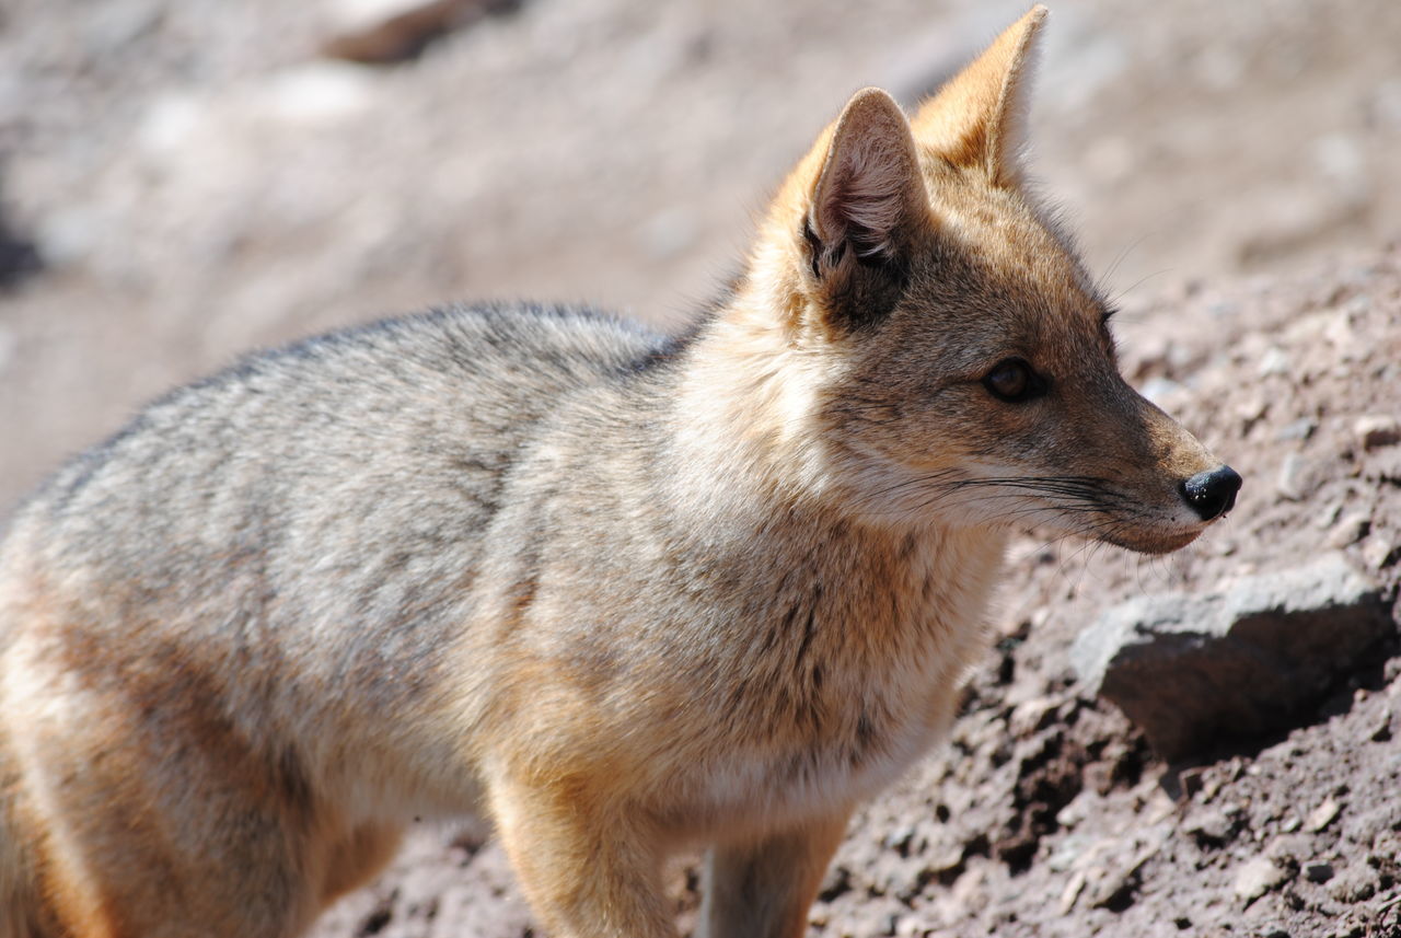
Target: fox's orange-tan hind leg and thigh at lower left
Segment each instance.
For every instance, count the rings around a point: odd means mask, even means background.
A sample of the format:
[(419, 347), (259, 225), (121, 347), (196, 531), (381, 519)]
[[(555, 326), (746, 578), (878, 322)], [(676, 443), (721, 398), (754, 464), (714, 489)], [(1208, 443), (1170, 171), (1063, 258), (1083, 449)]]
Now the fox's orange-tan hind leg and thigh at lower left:
[(322, 861), (293, 752), (242, 738), (195, 676), (153, 669), (142, 683), (67, 666), (55, 647), (21, 640), (0, 658), (6, 825), (36, 906), (21, 913), (74, 938), (304, 928)]

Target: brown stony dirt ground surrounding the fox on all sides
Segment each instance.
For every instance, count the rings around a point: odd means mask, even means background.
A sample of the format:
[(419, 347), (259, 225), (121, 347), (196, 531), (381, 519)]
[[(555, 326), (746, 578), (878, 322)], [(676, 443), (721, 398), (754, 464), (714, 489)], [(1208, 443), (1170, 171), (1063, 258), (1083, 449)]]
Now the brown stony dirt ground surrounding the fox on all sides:
[[(0, 504), (252, 346), (481, 297), (681, 323), (850, 91), (913, 102), (1021, 13), (525, 0), (361, 66), (319, 53), (350, 6), (0, 8)], [(853, 825), (810, 934), (1401, 935), (1394, 641), (1191, 764), (1068, 657), (1122, 599), (1323, 550), (1394, 601), (1401, 445), (1367, 427), (1401, 416), (1401, 4), (1051, 6), (1041, 188), (1126, 372), (1245, 489), (1167, 560), (1019, 543), (950, 745)], [(481, 832), (427, 830), (318, 934), (530, 930)]]

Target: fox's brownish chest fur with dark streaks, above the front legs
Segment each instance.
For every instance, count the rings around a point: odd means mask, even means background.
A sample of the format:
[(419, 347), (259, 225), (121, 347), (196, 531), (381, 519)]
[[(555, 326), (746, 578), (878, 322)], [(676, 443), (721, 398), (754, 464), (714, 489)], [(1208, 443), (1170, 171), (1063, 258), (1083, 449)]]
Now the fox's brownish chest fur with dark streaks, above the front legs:
[(951, 721), (985, 598), (881, 596), (884, 610), (780, 620), (785, 640), (736, 662), (744, 676), (710, 701), (727, 732), (706, 762), (708, 799), (801, 818), (890, 784)]

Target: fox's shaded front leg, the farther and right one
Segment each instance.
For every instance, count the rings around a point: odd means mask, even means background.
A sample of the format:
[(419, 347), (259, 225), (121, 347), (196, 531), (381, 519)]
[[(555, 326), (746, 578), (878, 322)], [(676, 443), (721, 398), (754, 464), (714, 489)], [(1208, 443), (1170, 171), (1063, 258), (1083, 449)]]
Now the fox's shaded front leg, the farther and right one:
[(849, 812), (706, 854), (698, 938), (797, 938)]

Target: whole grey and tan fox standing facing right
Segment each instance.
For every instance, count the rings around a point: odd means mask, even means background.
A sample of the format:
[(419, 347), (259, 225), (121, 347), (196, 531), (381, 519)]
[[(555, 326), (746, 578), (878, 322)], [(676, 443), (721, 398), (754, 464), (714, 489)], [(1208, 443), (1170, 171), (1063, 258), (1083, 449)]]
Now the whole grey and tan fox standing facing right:
[(1185, 546), (1241, 479), (1121, 377), (1030, 193), (1031, 8), (856, 92), (661, 335), (457, 305), (149, 405), (0, 543), (0, 935), (304, 932), (489, 820), (559, 938), (794, 938), (948, 728), (1010, 532)]

